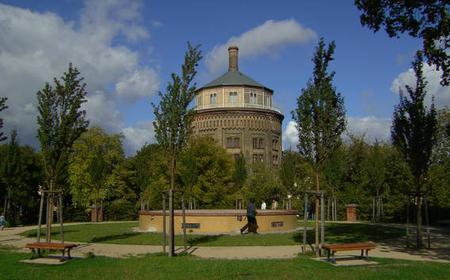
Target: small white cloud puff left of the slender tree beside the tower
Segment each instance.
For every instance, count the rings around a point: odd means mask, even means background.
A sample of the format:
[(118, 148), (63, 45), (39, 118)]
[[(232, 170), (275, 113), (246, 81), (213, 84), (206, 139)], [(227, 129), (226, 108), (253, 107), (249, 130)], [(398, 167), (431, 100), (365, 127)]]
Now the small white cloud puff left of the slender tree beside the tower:
[(135, 70), (116, 84), (117, 94), (131, 100), (152, 96), (158, 89), (159, 76), (153, 69)]

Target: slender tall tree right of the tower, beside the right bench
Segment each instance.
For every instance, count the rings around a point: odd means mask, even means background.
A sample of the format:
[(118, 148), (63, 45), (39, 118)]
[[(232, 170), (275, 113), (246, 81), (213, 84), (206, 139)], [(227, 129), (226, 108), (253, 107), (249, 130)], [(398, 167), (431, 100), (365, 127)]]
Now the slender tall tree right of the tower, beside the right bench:
[[(344, 99), (333, 86), (334, 72), (328, 71), (333, 61), (334, 41), (325, 46), (320, 39), (312, 61), (314, 73), (306, 88), (297, 99), (297, 108), (292, 112), (299, 132), (298, 149), (314, 168), (316, 191), (320, 191), (319, 175), (325, 160), (341, 144), (345, 130)], [(319, 197), (316, 196), (316, 254), (319, 254)]]

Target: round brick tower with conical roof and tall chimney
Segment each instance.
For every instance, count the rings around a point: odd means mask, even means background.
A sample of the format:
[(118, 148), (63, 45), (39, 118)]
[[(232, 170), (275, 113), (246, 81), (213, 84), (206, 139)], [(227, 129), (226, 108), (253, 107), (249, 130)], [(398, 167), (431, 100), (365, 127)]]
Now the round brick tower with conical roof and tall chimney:
[(193, 134), (214, 138), (229, 153), (278, 166), (284, 116), (273, 107), (273, 90), (239, 72), (238, 47), (228, 48), (228, 72), (199, 88)]

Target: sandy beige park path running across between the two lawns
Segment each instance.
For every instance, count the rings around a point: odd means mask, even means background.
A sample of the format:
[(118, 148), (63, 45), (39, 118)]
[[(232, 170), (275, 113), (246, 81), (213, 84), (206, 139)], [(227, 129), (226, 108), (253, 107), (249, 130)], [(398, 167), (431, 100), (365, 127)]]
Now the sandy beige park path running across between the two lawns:
[[(10, 247), (18, 251), (28, 252), (24, 246), (26, 243), (34, 242), (34, 238), (26, 238), (20, 234), (24, 231), (35, 229), (36, 226), (26, 226), (17, 228), (6, 228), (0, 231), (0, 247)], [(414, 261), (435, 261), (450, 263), (450, 244), (447, 234), (433, 234), (434, 249), (413, 250), (403, 246), (403, 240), (387, 241), (378, 243), (375, 250), (370, 252), (372, 257), (392, 258)], [(67, 241), (69, 242), (69, 241)], [(84, 257), (88, 254), (96, 256), (106, 256), (115, 258), (125, 258), (150, 253), (162, 252), (161, 246), (152, 245), (122, 245), (122, 244), (102, 244), (102, 243), (80, 243), (80, 246), (73, 250), (73, 256)], [(310, 249), (309, 249), (310, 250)], [(178, 247), (177, 252), (182, 252), (183, 248)], [(302, 246), (238, 246), (238, 247), (191, 247), (187, 252), (201, 258), (213, 259), (286, 259), (294, 258), (302, 251)], [(358, 252), (353, 252), (357, 255)]]

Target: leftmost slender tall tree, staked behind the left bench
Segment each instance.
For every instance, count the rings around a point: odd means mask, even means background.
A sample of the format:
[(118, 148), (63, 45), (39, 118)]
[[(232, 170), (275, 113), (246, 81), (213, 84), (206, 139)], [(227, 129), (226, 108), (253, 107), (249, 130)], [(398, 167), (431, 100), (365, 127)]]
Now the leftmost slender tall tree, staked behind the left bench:
[[(54, 87), (46, 83), (37, 92), (38, 139), (41, 145), (45, 185), (49, 190), (63, 190), (67, 183), (67, 166), (73, 142), (88, 127), (86, 112), (86, 84), (77, 68), (69, 65), (60, 80), (54, 78)], [(47, 241), (51, 241), (53, 203), (47, 211)]]

